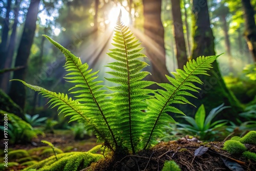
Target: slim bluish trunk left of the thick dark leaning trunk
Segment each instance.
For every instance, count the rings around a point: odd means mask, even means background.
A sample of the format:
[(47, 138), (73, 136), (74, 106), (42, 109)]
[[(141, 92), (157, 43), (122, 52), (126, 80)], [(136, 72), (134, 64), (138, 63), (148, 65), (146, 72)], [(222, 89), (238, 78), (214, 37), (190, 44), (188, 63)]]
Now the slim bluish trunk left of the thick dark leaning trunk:
[[(5, 61), (4, 68), (11, 68), (11, 65), (12, 65), (14, 48), (16, 45), (15, 39), (16, 39), (16, 29), (18, 24), (19, 5), (20, 5), (20, 0), (16, 0), (15, 8), (14, 8), (14, 23), (12, 25), (12, 34), (10, 37), (10, 42), (9, 42), (8, 51), (6, 54), (6, 61)], [(3, 91), (5, 91), (6, 93), (8, 92), (8, 87), (10, 82), (9, 80), (10, 80), (10, 72), (5, 73), (2, 75), (2, 77), (0, 77), (1, 89), (3, 89)]]

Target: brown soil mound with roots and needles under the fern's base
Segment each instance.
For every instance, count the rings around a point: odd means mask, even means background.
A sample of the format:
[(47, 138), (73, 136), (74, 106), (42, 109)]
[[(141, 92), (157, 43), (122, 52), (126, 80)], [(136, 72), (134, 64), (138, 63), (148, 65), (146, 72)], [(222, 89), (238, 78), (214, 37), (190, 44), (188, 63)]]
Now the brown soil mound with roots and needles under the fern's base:
[[(225, 163), (232, 165), (232, 162), (240, 163), (244, 170), (255, 171), (256, 162), (248, 161), (242, 156), (230, 156), (222, 149), (224, 142), (191, 142), (191, 141), (169, 141), (161, 142), (147, 151), (139, 152), (138, 155), (124, 157), (116, 156), (106, 158), (93, 163), (85, 170), (110, 171), (110, 170), (162, 170), (164, 161), (174, 160), (184, 171), (199, 170), (241, 170), (229, 169)], [(195, 157), (195, 150), (200, 146), (208, 147), (206, 153)], [(256, 152), (256, 145), (248, 145), (251, 152)], [(223, 161), (224, 160), (224, 161)]]

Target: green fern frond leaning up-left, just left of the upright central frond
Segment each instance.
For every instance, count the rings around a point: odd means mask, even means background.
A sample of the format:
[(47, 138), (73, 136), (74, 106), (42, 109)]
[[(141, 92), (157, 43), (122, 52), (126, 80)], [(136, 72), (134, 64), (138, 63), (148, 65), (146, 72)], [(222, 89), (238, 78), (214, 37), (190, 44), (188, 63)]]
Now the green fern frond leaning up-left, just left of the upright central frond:
[[(94, 81), (97, 78), (95, 75), (98, 72), (91, 73), (92, 69), (89, 69), (87, 63), (82, 64), (80, 58), (73, 55), (69, 50), (59, 45), (47, 35), (44, 36), (66, 56), (64, 68), (69, 73), (65, 78), (69, 82), (76, 83), (69, 91), (75, 89), (71, 93), (76, 94), (77, 101), (81, 105), (86, 106), (84, 114), (86, 114), (87, 118), (90, 118), (90, 123), (97, 125), (99, 132), (105, 135), (104, 139), (110, 142), (113, 141), (117, 146), (117, 141), (111, 128), (116, 126), (116, 124), (115, 122), (109, 122), (109, 120), (115, 120), (113, 108), (109, 108), (111, 102), (105, 98), (105, 90), (99, 90), (103, 87), (99, 83), (103, 81)], [(112, 125), (110, 125), (111, 123)]]

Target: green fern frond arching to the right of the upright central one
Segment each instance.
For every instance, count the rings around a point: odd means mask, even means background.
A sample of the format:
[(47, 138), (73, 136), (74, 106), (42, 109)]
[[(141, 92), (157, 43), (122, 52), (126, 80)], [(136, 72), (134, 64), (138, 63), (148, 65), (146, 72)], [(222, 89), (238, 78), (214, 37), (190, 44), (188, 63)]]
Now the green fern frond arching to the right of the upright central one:
[[(198, 92), (200, 88), (195, 86), (195, 83), (202, 84), (203, 82), (196, 75), (207, 74), (207, 70), (211, 67), (211, 63), (214, 62), (219, 56), (200, 56), (196, 60), (189, 60), (184, 66), (184, 71), (177, 69), (177, 72), (172, 72), (175, 76), (166, 78), (171, 84), (159, 83), (158, 85), (164, 88), (166, 91), (157, 90), (154, 99), (148, 99), (148, 116), (145, 130), (150, 129), (151, 132), (148, 134), (148, 140), (144, 148), (147, 147), (148, 143), (152, 140), (152, 137), (161, 134), (160, 128), (166, 125), (166, 122), (175, 122), (174, 119), (169, 116), (166, 112), (183, 114), (182, 111), (170, 106), (171, 104), (191, 104), (184, 96), (191, 96), (196, 98), (193, 94), (187, 92)], [(154, 118), (154, 119), (153, 119)], [(153, 126), (152, 126), (153, 125)]]

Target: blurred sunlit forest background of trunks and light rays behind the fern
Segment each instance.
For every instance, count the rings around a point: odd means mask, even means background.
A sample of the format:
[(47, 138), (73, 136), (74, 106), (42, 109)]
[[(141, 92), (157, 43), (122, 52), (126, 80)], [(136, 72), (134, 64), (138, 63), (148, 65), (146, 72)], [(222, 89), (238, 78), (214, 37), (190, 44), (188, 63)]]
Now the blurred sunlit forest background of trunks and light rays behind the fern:
[[(193, 100), (196, 106), (204, 103), (208, 113), (224, 102), (232, 108), (221, 117), (234, 120), (255, 104), (255, 0), (0, 0), (0, 109), (66, 124), (56, 110), (48, 109), (47, 98), (9, 80), (63, 93), (71, 87), (63, 79), (65, 57), (42, 34), (100, 70), (98, 79), (104, 79), (120, 9), (124, 24), (145, 47), (152, 73), (148, 79), (166, 82), (165, 74), (183, 69), (188, 59), (224, 53), (211, 76), (202, 77), (205, 84), (199, 100)], [(182, 109), (188, 116), (196, 110)]]

